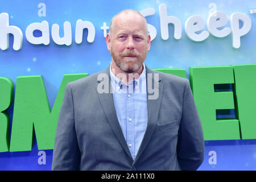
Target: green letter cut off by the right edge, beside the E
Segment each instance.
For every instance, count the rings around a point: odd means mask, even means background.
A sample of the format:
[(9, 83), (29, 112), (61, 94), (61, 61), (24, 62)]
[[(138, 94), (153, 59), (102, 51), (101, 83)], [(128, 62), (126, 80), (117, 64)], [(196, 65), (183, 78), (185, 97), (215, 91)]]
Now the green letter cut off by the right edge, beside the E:
[(256, 139), (256, 64), (234, 65), (237, 116), (242, 139)]

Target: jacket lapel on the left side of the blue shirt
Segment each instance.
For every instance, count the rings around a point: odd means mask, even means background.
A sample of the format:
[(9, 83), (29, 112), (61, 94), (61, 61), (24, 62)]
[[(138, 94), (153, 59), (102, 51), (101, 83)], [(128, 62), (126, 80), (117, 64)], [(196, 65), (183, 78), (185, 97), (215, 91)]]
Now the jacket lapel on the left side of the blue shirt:
[[(117, 118), (117, 112), (115, 111), (114, 101), (113, 101), (113, 95), (110, 92), (111, 85), (110, 85), (110, 75), (109, 75), (109, 67), (102, 72), (105, 74), (104, 78), (107, 80), (97, 80), (96, 83), (96, 92), (98, 94), (98, 98), (100, 99), (102, 109), (104, 110), (104, 113), (106, 115), (106, 118), (109, 122), (110, 127), (112, 128), (115, 136), (119, 140), (119, 143), (127, 153), (127, 155), (130, 156), (130, 158), (133, 160), (133, 157), (130, 154), (130, 150), (127, 146), (127, 143), (125, 141), (125, 137), (123, 137), (122, 129), (119, 124), (118, 118)], [(100, 73), (101, 74), (101, 73)], [(98, 92), (98, 84), (100, 84), (102, 81), (105, 81), (105, 83), (108, 83), (108, 93), (99, 93)]]

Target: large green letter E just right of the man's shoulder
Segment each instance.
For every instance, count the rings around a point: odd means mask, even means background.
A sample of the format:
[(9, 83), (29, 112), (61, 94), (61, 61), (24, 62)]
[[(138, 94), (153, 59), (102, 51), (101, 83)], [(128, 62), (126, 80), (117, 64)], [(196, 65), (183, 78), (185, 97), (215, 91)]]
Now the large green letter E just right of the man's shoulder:
[(237, 119), (216, 119), (216, 109), (234, 109), (233, 92), (214, 92), (214, 84), (233, 84), (232, 67), (189, 68), (191, 88), (205, 140), (240, 139)]

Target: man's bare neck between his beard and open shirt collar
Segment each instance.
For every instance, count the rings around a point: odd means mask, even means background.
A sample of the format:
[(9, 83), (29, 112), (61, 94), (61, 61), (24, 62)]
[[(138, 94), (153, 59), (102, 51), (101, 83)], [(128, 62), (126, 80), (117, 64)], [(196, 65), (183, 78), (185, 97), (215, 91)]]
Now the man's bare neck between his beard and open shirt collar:
[[(115, 61), (112, 60), (112, 64), (111, 64), (111, 71), (114, 73), (114, 75), (121, 80), (122, 82), (124, 82), (126, 85), (128, 85), (131, 81), (133, 80), (137, 80), (139, 78), (139, 76), (141, 76), (141, 73), (143, 71), (143, 65), (141, 68), (139, 68), (137, 71), (133, 72), (133, 73), (127, 73), (125, 71), (122, 71), (122, 69), (120, 69), (116, 64)], [(126, 80), (123, 79), (123, 77), (126, 77)]]

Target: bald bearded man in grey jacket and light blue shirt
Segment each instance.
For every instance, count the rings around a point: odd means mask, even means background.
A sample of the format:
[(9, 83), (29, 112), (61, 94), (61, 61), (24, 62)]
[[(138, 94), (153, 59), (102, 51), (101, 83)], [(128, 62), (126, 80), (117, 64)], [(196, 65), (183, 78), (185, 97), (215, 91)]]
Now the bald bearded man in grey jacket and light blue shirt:
[(113, 17), (106, 36), (112, 63), (65, 88), (53, 170), (196, 170), (201, 165), (203, 130), (189, 82), (144, 64), (150, 39), (138, 11)]

